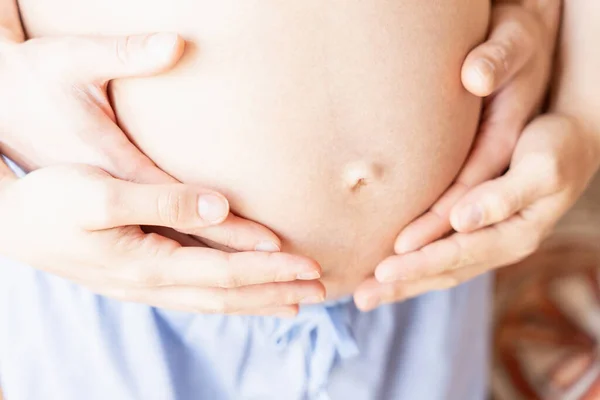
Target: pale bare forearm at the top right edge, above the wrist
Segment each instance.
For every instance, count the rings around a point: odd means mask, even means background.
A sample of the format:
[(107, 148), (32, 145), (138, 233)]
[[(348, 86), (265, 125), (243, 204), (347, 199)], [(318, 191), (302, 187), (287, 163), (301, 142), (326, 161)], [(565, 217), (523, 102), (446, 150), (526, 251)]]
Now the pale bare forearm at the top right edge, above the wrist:
[(565, 0), (552, 108), (589, 125), (600, 146), (599, 38), (600, 1)]

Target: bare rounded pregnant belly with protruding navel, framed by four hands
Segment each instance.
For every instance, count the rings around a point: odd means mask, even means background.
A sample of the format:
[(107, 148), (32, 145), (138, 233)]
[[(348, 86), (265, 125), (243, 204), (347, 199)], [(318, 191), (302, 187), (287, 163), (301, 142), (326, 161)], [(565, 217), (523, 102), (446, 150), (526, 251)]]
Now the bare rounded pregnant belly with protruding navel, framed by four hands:
[(181, 33), (173, 71), (113, 82), (121, 125), (162, 169), (318, 260), (330, 298), (392, 253), (476, 130), (460, 67), (486, 0), (20, 3), (31, 36)]

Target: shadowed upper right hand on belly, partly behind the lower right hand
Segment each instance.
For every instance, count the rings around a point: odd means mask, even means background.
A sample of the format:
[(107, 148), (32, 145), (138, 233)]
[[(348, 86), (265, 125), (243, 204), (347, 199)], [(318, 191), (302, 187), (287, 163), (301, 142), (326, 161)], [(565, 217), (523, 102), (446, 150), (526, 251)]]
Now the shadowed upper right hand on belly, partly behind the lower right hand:
[(560, 20), (560, 0), (496, 2), (488, 41), (473, 50), (463, 83), (485, 99), (475, 144), (454, 184), (429, 212), (398, 236), (396, 252), (417, 250), (448, 233), (450, 210), (476, 185), (501, 175), (521, 132), (547, 92)]

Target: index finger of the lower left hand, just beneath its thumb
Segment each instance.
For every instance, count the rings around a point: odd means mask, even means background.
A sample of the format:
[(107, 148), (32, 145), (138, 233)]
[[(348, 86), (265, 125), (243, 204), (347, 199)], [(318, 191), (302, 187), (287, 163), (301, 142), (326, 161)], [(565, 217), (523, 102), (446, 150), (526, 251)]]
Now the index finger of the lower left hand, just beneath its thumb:
[[(131, 260), (110, 276), (133, 287), (237, 288), (271, 282), (319, 279), (319, 264), (307, 257), (268, 252), (225, 253), (181, 247), (156, 235), (121, 238), (112, 252)], [(121, 261), (121, 263), (123, 263)]]

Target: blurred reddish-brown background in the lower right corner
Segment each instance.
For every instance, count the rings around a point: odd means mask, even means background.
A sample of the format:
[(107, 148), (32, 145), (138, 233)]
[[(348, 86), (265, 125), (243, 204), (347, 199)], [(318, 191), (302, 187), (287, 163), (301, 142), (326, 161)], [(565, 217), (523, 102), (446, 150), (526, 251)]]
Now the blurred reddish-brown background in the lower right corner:
[(496, 300), (494, 400), (600, 399), (600, 176)]

